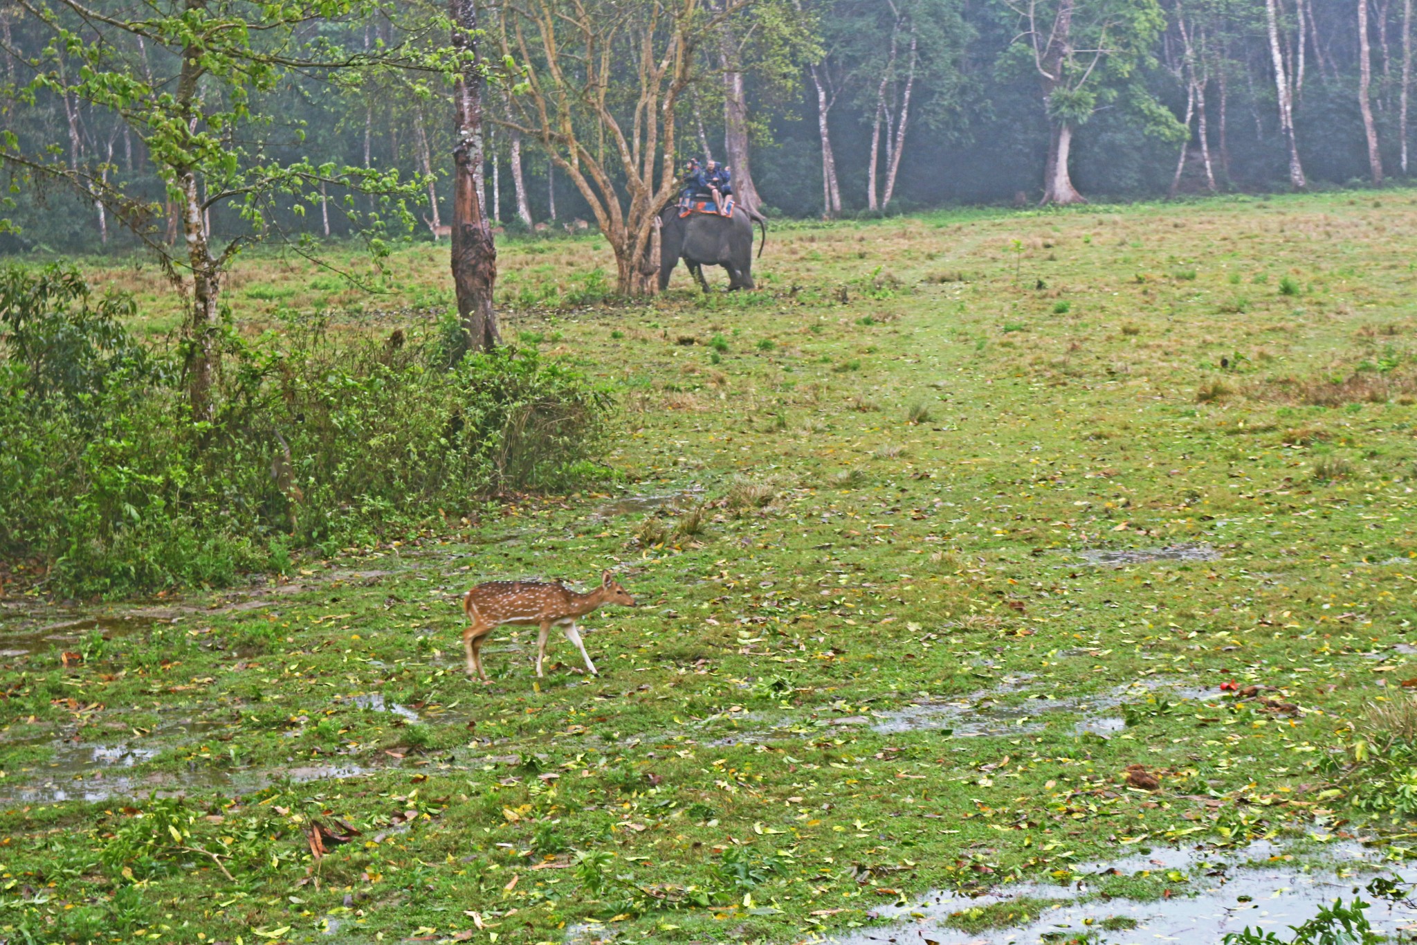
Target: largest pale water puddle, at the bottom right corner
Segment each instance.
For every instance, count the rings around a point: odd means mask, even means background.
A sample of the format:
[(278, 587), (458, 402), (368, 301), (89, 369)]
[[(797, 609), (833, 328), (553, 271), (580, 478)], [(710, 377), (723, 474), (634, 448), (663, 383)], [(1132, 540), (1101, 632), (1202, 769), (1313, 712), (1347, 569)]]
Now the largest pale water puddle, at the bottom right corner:
[[(894, 924), (867, 928), (830, 939), (835, 945), (866, 945), (867, 942), (924, 942), (937, 945), (1033, 945), (1058, 942), (1074, 936), (1083, 941), (1141, 945), (1142, 942), (1219, 942), (1229, 932), (1247, 925), (1289, 938), (1289, 925), (1312, 918), (1321, 905), (1342, 897), (1349, 901), (1355, 890), (1366, 901), (1376, 897), (1363, 885), (1379, 874), (1396, 873), (1404, 881), (1417, 881), (1417, 866), (1393, 866), (1382, 861), (1382, 853), (1366, 850), (1356, 843), (1338, 844), (1325, 850), (1325, 864), (1306, 868), (1284, 859), (1271, 844), (1254, 844), (1246, 850), (1155, 850), (1146, 856), (1101, 864), (1074, 874), (1071, 885), (1020, 883), (993, 890), (986, 895), (968, 897), (955, 893), (931, 893), (920, 902), (901, 907), (876, 908), (871, 918), (894, 919)], [(1326, 863), (1342, 863), (1348, 876), (1339, 877)], [(1355, 866), (1380, 868), (1382, 873), (1355, 870)], [(1131, 877), (1142, 871), (1166, 873), (1179, 870), (1185, 881), (1170, 884), (1172, 898), (1138, 902), (1124, 898), (1101, 900), (1100, 893), (1114, 877)], [(1051, 902), (1036, 919), (1003, 929), (962, 931), (969, 919), (979, 919), (975, 910), (1007, 907), (1017, 900)], [(1397, 938), (1417, 929), (1417, 905), (1386, 901), (1373, 902), (1365, 915), (1374, 929)], [(1406, 939), (1403, 939), (1406, 941)]]

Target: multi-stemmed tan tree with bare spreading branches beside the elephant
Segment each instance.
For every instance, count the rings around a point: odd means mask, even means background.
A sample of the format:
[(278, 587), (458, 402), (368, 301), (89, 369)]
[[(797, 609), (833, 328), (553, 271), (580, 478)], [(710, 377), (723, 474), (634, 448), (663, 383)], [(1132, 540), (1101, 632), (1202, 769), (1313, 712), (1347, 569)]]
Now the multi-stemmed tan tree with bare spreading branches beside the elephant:
[(700, 44), (752, 0), (524, 0), (492, 27), (520, 78), (509, 130), (536, 137), (615, 254), (615, 288), (657, 289), (660, 208), (679, 190), (677, 122)]

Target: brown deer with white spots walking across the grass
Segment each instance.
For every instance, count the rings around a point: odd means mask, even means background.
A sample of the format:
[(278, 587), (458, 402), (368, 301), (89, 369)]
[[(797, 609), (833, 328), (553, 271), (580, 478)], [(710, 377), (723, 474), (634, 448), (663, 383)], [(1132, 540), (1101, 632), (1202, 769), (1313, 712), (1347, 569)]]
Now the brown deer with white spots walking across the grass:
[(565, 632), (565, 639), (575, 643), (585, 660), (585, 669), (595, 676), (595, 663), (585, 652), (575, 619), (585, 616), (602, 604), (623, 604), (635, 606), (632, 598), (619, 581), (606, 571), (601, 575), (601, 587), (589, 594), (571, 591), (565, 585), (543, 581), (487, 581), (468, 591), (462, 598), (462, 611), (472, 623), (462, 632), (462, 646), (468, 652), (468, 676), (487, 681), (482, 672), (482, 643), (487, 635), (503, 623), (540, 625), (541, 635), (536, 642), (536, 674), (546, 676), (546, 639), (555, 623)]

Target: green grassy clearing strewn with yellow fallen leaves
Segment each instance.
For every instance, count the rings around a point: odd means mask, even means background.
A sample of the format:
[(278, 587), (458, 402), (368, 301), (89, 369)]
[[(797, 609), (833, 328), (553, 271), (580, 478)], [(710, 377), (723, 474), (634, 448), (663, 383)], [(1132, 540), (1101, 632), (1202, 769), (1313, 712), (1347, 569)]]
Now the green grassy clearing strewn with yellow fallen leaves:
[[(619, 390), (606, 480), (0, 601), (0, 938), (795, 942), (1168, 843), (1401, 859), (1338, 772), (1417, 677), (1414, 234), (1417, 191), (794, 224), (758, 292), (632, 307), (587, 302), (598, 238), (503, 247), (506, 337)], [(419, 332), (445, 266), (252, 258), (228, 300)], [(468, 681), (469, 585), (602, 568), (639, 606), (585, 622), (599, 679), (557, 638), (536, 680), (533, 628)]]

